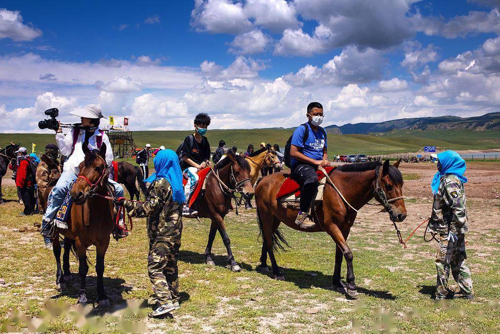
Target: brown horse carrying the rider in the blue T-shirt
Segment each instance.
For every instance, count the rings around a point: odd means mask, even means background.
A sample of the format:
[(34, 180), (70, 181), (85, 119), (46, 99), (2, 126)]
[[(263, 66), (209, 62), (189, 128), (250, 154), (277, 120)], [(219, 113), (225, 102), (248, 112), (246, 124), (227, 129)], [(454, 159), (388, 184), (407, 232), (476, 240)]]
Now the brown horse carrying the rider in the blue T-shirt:
[[(400, 160), (399, 160), (400, 161)], [(271, 260), (274, 278), (284, 279), (274, 258), (274, 251), (283, 249), (286, 240), (278, 230), (280, 222), (289, 227), (304, 232), (326, 232), (336, 244), (335, 267), (333, 271), (333, 286), (336, 290), (345, 291), (352, 298), (357, 297), (356, 285), (354, 283), (354, 271), (352, 267), (352, 251), (347, 242), (350, 228), (356, 218), (356, 210), (359, 210), (370, 199), (384, 206), (393, 222), (399, 222), (406, 218), (406, 208), (401, 195), (403, 185), (402, 175), (397, 169), (397, 161), (393, 166), (386, 160), (383, 165), (377, 162), (346, 164), (339, 166), (330, 172), (329, 177), (343, 195), (329, 184), (326, 184), (323, 200), (315, 205), (314, 221), (316, 226), (312, 229), (303, 229), (295, 224), (297, 210), (285, 208), (276, 194), (284, 181), (283, 173), (275, 173), (264, 177), (255, 187), (255, 200), (257, 204), (257, 220), (262, 235), (262, 253), (258, 271), (268, 272), (267, 254)], [(393, 200), (391, 200), (393, 199)], [(348, 203), (348, 204), (347, 204)], [(347, 262), (346, 286), (340, 280), (340, 267), (342, 256)]]

